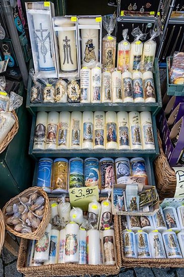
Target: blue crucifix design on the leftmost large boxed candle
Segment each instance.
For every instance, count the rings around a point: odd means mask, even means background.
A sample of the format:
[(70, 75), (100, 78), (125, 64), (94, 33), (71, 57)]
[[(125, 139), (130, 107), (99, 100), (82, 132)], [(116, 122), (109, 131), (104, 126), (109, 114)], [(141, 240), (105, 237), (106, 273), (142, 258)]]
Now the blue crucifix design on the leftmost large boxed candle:
[[(46, 37), (43, 38), (43, 33), (47, 32), (48, 29), (42, 29), (42, 23), (40, 23), (40, 29), (35, 30), (35, 31), (40, 33), (40, 37), (36, 34), (36, 40), (37, 39), (39, 40), (39, 41), (37, 40), (37, 44), (38, 44), (38, 42), (41, 43), (41, 47), (40, 48), (41, 48), (41, 53), (43, 55), (43, 61), (45, 63), (46, 62), (45, 56), (47, 54), (47, 46), (45, 45), (45, 42), (46, 42), (47, 39), (49, 39), (49, 50), (51, 49), (50, 32), (48, 32)], [(50, 56), (52, 57), (51, 51), (50, 51)], [(39, 58), (39, 52), (38, 52), (38, 58)]]

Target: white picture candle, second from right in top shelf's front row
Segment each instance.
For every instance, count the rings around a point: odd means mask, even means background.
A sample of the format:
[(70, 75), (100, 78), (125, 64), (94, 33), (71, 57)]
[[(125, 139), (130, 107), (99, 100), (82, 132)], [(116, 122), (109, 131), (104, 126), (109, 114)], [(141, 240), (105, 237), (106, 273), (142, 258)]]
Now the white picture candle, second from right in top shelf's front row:
[(134, 103), (144, 103), (142, 73), (136, 71), (132, 74)]

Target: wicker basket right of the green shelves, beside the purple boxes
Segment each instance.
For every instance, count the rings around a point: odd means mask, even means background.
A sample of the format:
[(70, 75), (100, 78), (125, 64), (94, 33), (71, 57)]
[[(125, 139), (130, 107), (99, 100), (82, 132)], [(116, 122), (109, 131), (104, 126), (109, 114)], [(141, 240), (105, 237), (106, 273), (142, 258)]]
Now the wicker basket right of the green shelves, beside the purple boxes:
[(160, 154), (154, 161), (155, 179), (159, 198), (160, 200), (163, 200), (164, 198), (174, 197), (176, 189), (176, 175), (175, 171), (170, 168), (167, 158), (163, 152), (162, 141), (158, 130), (157, 136)]

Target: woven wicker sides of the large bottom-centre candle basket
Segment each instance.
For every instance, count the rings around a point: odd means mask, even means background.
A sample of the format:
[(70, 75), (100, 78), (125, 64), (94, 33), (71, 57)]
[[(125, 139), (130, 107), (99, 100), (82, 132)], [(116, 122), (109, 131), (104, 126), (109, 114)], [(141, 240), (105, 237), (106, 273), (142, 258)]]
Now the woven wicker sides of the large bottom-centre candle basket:
[[(103, 201), (106, 198), (100, 198)], [(92, 264), (74, 264), (74, 263), (57, 263), (42, 266), (26, 267), (28, 240), (22, 239), (17, 269), (25, 276), (69, 276), (69, 275), (114, 275), (118, 274), (121, 268), (121, 245), (119, 233), (119, 219), (114, 216), (114, 229), (117, 247), (117, 264), (115, 265), (92, 265)]]

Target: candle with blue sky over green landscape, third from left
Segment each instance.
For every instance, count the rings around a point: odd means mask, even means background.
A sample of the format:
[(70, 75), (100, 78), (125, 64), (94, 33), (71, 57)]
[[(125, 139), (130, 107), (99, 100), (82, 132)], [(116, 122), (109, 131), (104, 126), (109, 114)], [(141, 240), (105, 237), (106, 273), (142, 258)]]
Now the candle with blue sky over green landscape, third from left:
[(69, 160), (69, 188), (83, 186), (83, 160), (72, 158)]

